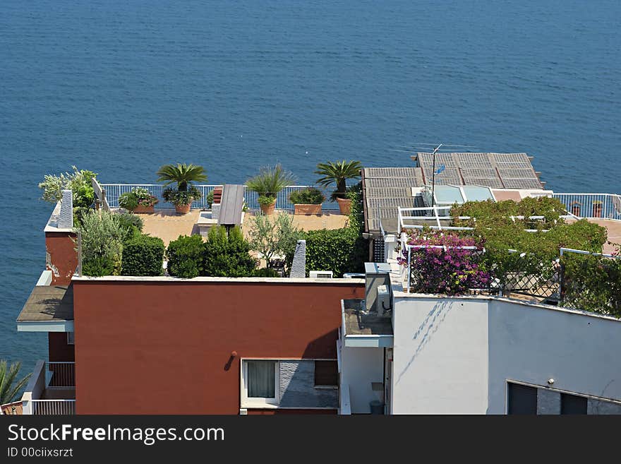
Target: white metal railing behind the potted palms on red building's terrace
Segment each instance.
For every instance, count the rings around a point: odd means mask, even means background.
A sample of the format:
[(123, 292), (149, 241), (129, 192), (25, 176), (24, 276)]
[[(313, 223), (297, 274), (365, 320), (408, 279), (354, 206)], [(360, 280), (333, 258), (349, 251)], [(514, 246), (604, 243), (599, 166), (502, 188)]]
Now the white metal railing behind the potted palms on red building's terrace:
[[(164, 201), (162, 194), (164, 193), (165, 186), (161, 184), (101, 184), (102, 189), (106, 192), (106, 198), (111, 208), (119, 208), (119, 197), (126, 192), (135, 189), (135, 187), (143, 187), (151, 192), (155, 196), (159, 203), (155, 205), (155, 208), (174, 208), (171, 203)], [(207, 208), (207, 194), (213, 191), (216, 187), (222, 187), (222, 185), (196, 185), (195, 186), (201, 194), (199, 200), (192, 203), (192, 208)], [(308, 188), (308, 185), (288, 185), (282, 191), (279, 191), (276, 196), (276, 208), (282, 210), (293, 210), (294, 205), (289, 201), (289, 195), (291, 192)], [(258, 194), (251, 191), (246, 186), (243, 186), (243, 196), (246, 201), (246, 207), (251, 210), (259, 209)], [(327, 202), (326, 202), (327, 203)], [(324, 203), (324, 205), (326, 204)], [(328, 209), (328, 208), (326, 208)]]

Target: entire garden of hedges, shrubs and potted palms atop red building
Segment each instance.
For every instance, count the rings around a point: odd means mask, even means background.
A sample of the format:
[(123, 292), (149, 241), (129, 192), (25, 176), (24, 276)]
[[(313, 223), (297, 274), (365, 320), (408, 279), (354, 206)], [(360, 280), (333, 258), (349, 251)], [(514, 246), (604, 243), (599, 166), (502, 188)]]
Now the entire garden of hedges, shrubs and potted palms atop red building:
[[(294, 215), (274, 213), (277, 194), (294, 181), (281, 165), (263, 167), (248, 179), (248, 189), (259, 195), (260, 212), (245, 222), (246, 237), (239, 227), (210, 227), (206, 237), (181, 235), (166, 246), (161, 238), (143, 231), (144, 222), (135, 213), (152, 212), (158, 199), (143, 187), (134, 187), (119, 197), (120, 210), (95, 209), (91, 179), (97, 174), (73, 167), (73, 172), (46, 176), (40, 188), (51, 203), (61, 191), (73, 192), (74, 227), (80, 231), (83, 274), (155, 276), (179, 278), (279, 277), (289, 275), (296, 243), (306, 239), (307, 275), (310, 270), (332, 270), (334, 277), (363, 271), (368, 245), (362, 239), (363, 215), (359, 184), (346, 187), (346, 179), (359, 177), (359, 162), (318, 165), (319, 184), (334, 185), (333, 198), (347, 204), (345, 227), (303, 231), (294, 225)], [(204, 182), (205, 169), (196, 165), (165, 165), (158, 180), (170, 185), (164, 201), (173, 203), (179, 214), (188, 212), (200, 196), (195, 182)], [(213, 195), (213, 193), (211, 193)], [(209, 203), (212, 198), (208, 198)], [(289, 200), (301, 208), (298, 214), (319, 214), (325, 194), (317, 187), (293, 191)], [(311, 208), (312, 207), (312, 208)], [(305, 209), (306, 208), (306, 209)], [(78, 246), (76, 242), (76, 247)]]

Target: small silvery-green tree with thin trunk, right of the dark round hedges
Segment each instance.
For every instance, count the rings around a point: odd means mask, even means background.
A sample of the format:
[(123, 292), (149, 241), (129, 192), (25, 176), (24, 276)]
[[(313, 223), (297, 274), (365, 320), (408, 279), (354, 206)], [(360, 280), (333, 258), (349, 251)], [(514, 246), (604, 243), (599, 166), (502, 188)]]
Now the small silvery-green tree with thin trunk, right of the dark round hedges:
[(301, 237), (301, 231), (294, 226), (293, 216), (287, 213), (253, 216), (248, 233), (251, 248), (263, 255), (268, 268), (273, 256), (292, 256)]

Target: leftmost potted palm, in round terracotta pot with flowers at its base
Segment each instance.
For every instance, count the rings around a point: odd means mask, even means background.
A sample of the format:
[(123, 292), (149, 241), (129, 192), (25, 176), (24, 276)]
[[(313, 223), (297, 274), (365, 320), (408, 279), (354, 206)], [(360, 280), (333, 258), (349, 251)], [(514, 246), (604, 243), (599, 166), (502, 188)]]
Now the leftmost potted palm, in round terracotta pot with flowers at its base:
[(200, 191), (192, 185), (192, 182), (205, 182), (205, 168), (197, 165), (164, 165), (157, 171), (159, 176), (157, 180), (164, 182), (164, 185), (174, 184), (177, 188), (168, 187), (164, 189), (162, 197), (164, 201), (174, 204), (178, 214), (186, 214), (190, 212), (192, 202), (200, 198)]

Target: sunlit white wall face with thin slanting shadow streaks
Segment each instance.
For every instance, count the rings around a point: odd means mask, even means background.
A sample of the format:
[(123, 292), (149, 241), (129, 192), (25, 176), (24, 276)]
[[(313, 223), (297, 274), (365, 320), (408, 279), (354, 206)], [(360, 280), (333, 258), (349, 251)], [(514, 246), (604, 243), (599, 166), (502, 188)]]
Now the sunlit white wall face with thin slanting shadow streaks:
[(478, 299), (395, 295), (393, 414), (482, 414), (488, 311)]

